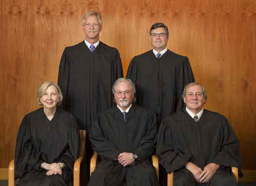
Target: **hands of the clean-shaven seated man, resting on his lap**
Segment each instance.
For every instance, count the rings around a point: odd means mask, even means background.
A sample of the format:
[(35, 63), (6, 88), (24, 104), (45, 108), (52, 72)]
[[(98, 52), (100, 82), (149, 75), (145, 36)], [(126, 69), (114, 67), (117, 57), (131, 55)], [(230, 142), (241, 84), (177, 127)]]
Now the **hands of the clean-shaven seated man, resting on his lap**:
[(186, 168), (194, 175), (197, 183), (205, 183), (209, 181), (213, 175), (216, 173), (220, 166), (215, 163), (209, 163), (202, 170), (200, 167), (196, 166), (192, 162), (186, 164)]

